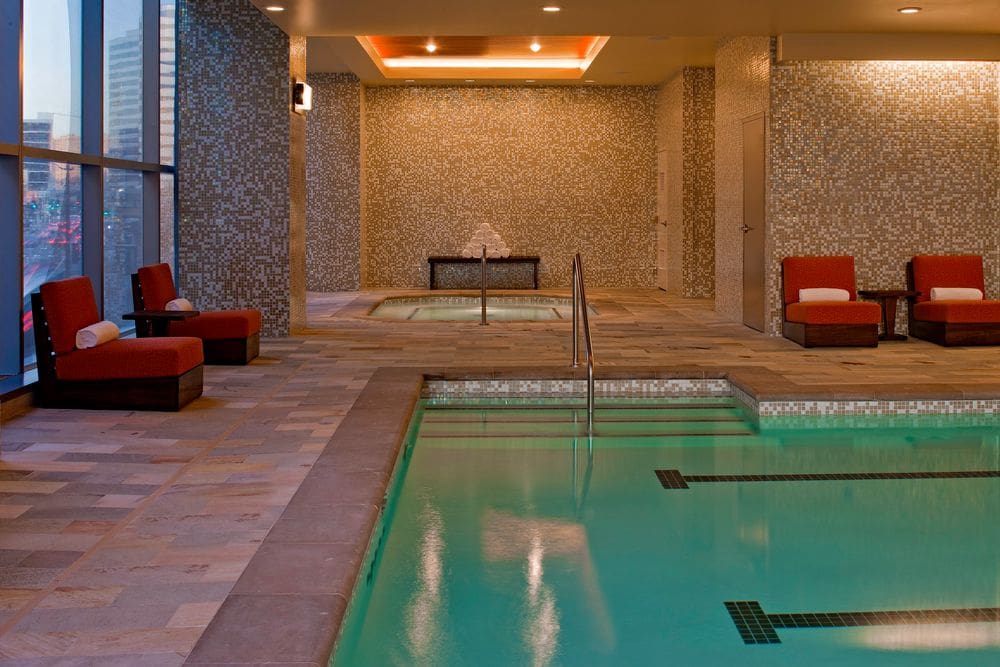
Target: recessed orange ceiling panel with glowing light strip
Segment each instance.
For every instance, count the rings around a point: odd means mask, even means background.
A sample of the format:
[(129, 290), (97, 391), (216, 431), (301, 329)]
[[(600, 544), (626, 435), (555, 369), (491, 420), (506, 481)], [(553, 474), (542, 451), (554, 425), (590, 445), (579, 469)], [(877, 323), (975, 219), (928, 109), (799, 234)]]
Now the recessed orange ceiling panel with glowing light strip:
[(389, 79), (579, 79), (608, 41), (596, 36), (362, 36)]

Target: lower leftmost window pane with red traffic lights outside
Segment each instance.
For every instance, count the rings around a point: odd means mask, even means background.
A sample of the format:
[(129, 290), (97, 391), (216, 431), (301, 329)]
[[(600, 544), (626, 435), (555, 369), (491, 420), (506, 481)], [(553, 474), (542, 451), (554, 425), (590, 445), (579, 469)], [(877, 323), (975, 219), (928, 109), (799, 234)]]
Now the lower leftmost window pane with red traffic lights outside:
[(80, 198), (79, 165), (24, 161), (25, 367), (35, 363), (29, 295), (42, 283), (83, 273)]

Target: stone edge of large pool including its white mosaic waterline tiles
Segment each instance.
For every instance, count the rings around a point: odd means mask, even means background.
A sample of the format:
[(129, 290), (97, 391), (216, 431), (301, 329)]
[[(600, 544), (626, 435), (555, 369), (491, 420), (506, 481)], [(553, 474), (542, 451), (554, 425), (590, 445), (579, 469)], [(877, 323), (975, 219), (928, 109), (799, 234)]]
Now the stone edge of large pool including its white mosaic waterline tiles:
[[(191, 665), (325, 665), (363, 571), (382, 539), (382, 510), (417, 401), (434, 397), (574, 396), (585, 369), (495, 368), (431, 371), (380, 368), (345, 416), (187, 660)], [(930, 401), (892, 389), (795, 389), (766, 369), (617, 367), (599, 395), (734, 396), (758, 420), (783, 414), (979, 415), (1000, 420), (1000, 399)], [(856, 393), (856, 398), (838, 395)], [(864, 395), (864, 398), (861, 396)], [(808, 397), (808, 398), (806, 398)], [(798, 422), (801, 424), (801, 421)], [(369, 564), (370, 565), (370, 564)], [(274, 623), (280, 614), (281, 623)]]

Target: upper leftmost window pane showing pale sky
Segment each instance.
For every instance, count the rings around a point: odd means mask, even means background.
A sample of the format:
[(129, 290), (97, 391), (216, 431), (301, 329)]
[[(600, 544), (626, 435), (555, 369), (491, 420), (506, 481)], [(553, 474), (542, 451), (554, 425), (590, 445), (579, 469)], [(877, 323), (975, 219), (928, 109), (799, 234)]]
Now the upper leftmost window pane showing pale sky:
[(80, 152), (81, 38), (80, 0), (24, 3), (25, 146)]

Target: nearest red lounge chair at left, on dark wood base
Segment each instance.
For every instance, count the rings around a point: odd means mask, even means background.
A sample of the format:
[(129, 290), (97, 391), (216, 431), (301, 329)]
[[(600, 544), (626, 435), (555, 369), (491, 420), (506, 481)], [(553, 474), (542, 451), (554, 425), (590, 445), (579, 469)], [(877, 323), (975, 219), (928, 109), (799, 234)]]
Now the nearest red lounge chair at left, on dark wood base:
[(90, 278), (45, 283), (31, 295), (42, 407), (180, 410), (201, 396), (197, 338), (119, 338), (76, 349), (76, 332), (100, 320)]

